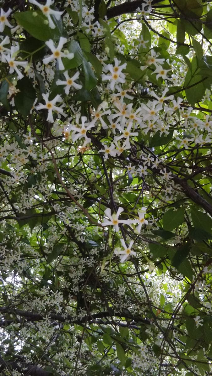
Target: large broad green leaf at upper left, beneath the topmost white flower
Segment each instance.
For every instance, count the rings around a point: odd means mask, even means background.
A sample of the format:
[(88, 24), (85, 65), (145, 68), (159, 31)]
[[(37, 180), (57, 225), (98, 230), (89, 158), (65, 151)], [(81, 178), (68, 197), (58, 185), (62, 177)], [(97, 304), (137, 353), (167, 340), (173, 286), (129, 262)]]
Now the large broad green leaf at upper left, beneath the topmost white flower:
[[(37, 14), (36, 16), (34, 16)], [(47, 20), (41, 11), (25, 11), (14, 13), (15, 20), (21, 25), (29, 34), (40, 41), (48, 41), (61, 36), (61, 32), (56, 26), (51, 29), (44, 21)]]

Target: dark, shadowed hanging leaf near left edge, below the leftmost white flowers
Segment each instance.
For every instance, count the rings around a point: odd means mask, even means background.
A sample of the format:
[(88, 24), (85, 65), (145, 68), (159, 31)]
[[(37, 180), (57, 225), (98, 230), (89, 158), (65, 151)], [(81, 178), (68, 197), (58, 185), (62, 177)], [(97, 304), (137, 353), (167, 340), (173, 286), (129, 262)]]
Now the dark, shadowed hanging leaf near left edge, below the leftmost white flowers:
[(28, 77), (23, 77), (18, 80), (17, 89), (20, 90), (14, 98), (15, 107), (23, 117), (27, 117), (35, 102), (36, 92)]

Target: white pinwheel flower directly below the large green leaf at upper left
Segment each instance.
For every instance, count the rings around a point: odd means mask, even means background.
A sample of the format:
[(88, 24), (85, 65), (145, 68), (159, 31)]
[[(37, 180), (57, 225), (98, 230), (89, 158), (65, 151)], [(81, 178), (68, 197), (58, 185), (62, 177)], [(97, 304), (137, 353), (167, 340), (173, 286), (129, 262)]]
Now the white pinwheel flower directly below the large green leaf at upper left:
[(47, 56), (46, 58), (43, 59), (44, 64), (48, 64), (50, 61), (57, 59), (58, 61), (58, 67), (59, 70), (64, 70), (65, 67), (63, 65), (62, 59), (61, 58), (68, 58), (68, 59), (73, 59), (74, 54), (73, 53), (65, 53), (61, 52), (61, 49), (63, 48), (63, 45), (68, 41), (67, 38), (63, 38), (63, 36), (60, 37), (58, 46), (55, 47), (54, 42), (52, 39), (49, 39), (49, 41), (46, 42), (46, 45), (49, 47), (49, 49), (52, 52), (52, 55)]

